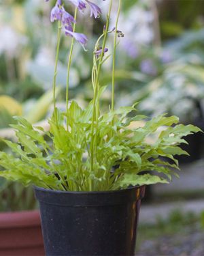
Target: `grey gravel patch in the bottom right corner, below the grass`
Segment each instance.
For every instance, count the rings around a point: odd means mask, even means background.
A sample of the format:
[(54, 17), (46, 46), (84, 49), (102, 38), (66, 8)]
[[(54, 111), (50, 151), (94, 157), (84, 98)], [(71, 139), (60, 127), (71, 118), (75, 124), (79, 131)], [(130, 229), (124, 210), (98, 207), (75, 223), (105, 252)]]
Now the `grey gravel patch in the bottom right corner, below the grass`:
[(185, 234), (161, 236), (141, 242), (137, 256), (203, 256), (204, 231), (188, 231)]

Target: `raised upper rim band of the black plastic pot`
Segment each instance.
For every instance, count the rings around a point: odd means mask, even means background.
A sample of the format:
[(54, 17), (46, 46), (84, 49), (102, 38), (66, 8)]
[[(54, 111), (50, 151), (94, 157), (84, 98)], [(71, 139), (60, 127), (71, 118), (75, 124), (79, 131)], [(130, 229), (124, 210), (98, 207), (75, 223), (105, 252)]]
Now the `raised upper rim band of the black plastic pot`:
[(145, 186), (133, 186), (123, 190), (110, 191), (61, 191), (34, 186), (35, 197), (41, 203), (71, 207), (95, 207), (118, 205), (143, 198)]

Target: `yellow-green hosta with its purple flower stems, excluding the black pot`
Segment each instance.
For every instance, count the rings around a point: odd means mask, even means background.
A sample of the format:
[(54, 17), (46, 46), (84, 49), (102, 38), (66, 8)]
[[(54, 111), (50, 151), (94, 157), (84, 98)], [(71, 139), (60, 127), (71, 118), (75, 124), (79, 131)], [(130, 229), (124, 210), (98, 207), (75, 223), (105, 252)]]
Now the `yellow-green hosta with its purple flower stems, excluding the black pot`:
[[(101, 1), (102, 2), (102, 1)], [(63, 1), (56, 1), (51, 21), (58, 21), (56, 65), (53, 79), (54, 111), (48, 120), (49, 132), (33, 127), (26, 119), (15, 117), (13, 124), (18, 142), (5, 141), (14, 154), (0, 153), (1, 176), (28, 186), (67, 191), (120, 190), (142, 184), (167, 183), (179, 169), (175, 155), (188, 154), (180, 148), (182, 137), (199, 128), (179, 124), (175, 116), (158, 115), (152, 119), (137, 115), (135, 105), (114, 109), (116, 48), (118, 37), (124, 36), (118, 28), (122, 1), (118, 3), (116, 25), (109, 27), (113, 0), (109, 0), (107, 23), (93, 50), (93, 98), (85, 109), (77, 102), (69, 103), (69, 73), (73, 46), (80, 42), (86, 49), (86, 35), (76, 32), (78, 11), (90, 8), (97, 18), (101, 9), (88, 0), (69, 0), (75, 5), (74, 17)], [(56, 108), (56, 76), (61, 33), (71, 37), (67, 66), (66, 111)], [(114, 36), (112, 36), (114, 35)], [(108, 55), (107, 37), (113, 38), (112, 55)], [(100, 85), (103, 63), (112, 57), (112, 102), (109, 111), (101, 113), (100, 98), (106, 87)], [(143, 125), (133, 126), (143, 120)], [(151, 139), (150, 139), (151, 138)], [(153, 138), (153, 139), (152, 139)], [(171, 161), (164, 159), (171, 159)], [(149, 174), (144, 174), (149, 171)]]

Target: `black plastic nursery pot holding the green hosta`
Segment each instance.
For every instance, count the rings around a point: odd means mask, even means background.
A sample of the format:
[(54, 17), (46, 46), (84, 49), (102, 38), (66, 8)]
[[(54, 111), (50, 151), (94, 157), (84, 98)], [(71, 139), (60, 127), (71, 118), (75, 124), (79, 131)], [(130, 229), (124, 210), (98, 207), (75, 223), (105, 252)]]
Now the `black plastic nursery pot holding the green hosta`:
[(134, 255), (145, 186), (108, 192), (35, 187), (46, 255)]

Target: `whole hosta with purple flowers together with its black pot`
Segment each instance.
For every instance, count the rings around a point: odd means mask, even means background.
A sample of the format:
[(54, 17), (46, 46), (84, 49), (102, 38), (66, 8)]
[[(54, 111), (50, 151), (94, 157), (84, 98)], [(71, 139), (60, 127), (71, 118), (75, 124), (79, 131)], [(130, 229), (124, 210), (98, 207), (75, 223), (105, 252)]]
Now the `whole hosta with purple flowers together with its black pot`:
[[(39, 200), (46, 255), (133, 255), (139, 207), (145, 185), (168, 183), (179, 169), (175, 155), (186, 134), (199, 132), (192, 125), (178, 124), (175, 116), (158, 115), (152, 119), (135, 115), (135, 104), (114, 109), (116, 46), (123, 33), (118, 29), (122, 1), (118, 3), (116, 25), (109, 28), (113, 0), (109, 1), (107, 23), (93, 51), (93, 98), (85, 109), (77, 102), (69, 104), (69, 71), (75, 40), (83, 47), (86, 35), (76, 32), (78, 10), (90, 8), (97, 18), (101, 9), (88, 0), (70, 0), (74, 17), (63, 1), (57, 0), (51, 21), (58, 20), (56, 65), (53, 80), (54, 113), (50, 131), (34, 127), (22, 117), (15, 117), (18, 143), (5, 141), (14, 155), (0, 153), (0, 175), (28, 186), (33, 184)], [(66, 111), (56, 108), (56, 76), (61, 32), (71, 36), (67, 66)], [(114, 34), (112, 68), (112, 104), (100, 112), (100, 74), (107, 55), (107, 37)], [(146, 119), (144, 126), (132, 122)], [(175, 124), (175, 126), (172, 126)], [(160, 127), (163, 131), (157, 133)], [(158, 134), (158, 136), (156, 135)], [(45, 140), (50, 138), (50, 140)], [(154, 136), (154, 142), (148, 140)], [(164, 156), (173, 164), (161, 160)], [(144, 174), (145, 171), (156, 171)]]

